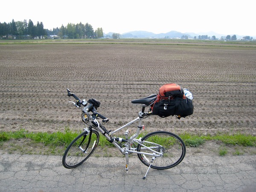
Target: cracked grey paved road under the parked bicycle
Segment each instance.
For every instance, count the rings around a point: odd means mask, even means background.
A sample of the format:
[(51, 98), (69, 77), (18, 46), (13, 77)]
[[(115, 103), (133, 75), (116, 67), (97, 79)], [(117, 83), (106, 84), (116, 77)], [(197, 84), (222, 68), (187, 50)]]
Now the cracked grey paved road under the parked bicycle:
[(90, 157), (75, 169), (65, 169), (60, 156), (3, 154), (0, 151), (1, 192), (255, 192), (256, 155), (186, 156), (167, 170), (147, 170), (137, 157), (125, 172), (123, 157)]

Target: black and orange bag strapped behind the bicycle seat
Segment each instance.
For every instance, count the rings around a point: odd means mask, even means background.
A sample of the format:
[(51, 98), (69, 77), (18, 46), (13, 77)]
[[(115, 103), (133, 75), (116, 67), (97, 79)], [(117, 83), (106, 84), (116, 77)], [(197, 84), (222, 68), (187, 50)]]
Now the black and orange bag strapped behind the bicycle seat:
[[(172, 90), (170, 87), (177, 87), (177, 90)], [(180, 86), (176, 86), (176, 84), (165, 84), (160, 87), (160, 94), (157, 95), (157, 99), (155, 100), (154, 105), (152, 105), (153, 114), (160, 117), (177, 115), (179, 119), (193, 114), (194, 106), (192, 100), (188, 99), (184, 95), (182, 88), (179, 87)], [(166, 93), (168, 97), (162, 97), (163, 90), (172, 90), (175, 95), (172, 95), (171, 91), (168, 91), (168, 93)], [(178, 91), (182, 91), (183, 94), (177, 94)]]

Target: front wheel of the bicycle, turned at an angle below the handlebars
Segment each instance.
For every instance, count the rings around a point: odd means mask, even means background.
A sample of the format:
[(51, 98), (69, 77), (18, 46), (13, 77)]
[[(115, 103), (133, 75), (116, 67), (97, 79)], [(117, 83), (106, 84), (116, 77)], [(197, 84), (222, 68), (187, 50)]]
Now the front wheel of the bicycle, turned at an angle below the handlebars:
[[(68, 145), (62, 158), (62, 165), (71, 169), (84, 163), (90, 157), (99, 143), (99, 132), (90, 130), (88, 134), (84, 131)], [(82, 149), (80, 149), (81, 147)]]

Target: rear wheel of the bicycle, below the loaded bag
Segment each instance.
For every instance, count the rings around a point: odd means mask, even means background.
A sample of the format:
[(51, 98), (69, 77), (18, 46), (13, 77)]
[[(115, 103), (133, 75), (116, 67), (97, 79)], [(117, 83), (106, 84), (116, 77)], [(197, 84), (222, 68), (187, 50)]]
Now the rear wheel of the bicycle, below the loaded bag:
[[(177, 166), (186, 154), (186, 146), (180, 137), (167, 131), (156, 131), (145, 135), (141, 139), (142, 144), (153, 148), (155, 151), (163, 151), (162, 157), (155, 157), (151, 168), (153, 169), (169, 169)], [(151, 142), (151, 143), (146, 143)], [(149, 149), (142, 145), (137, 145), (137, 151), (152, 153)], [(152, 156), (145, 156), (144, 154), (138, 154), (138, 157), (142, 163), (149, 166), (152, 160)]]

